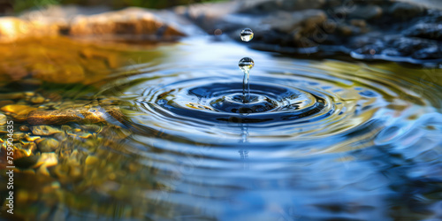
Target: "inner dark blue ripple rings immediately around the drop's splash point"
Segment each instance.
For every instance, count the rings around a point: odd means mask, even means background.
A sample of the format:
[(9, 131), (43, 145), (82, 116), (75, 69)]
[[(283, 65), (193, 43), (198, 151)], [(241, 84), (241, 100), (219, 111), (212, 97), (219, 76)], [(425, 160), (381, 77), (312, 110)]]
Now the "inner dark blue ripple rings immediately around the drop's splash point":
[(147, 90), (143, 96), (153, 102), (145, 104), (156, 112), (172, 112), (219, 124), (286, 124), (287, 121), (295, 124), (301, 118), (320, 117), (334, 111), (327, 95), (309, 88), (278, 85), (281, 82), (273, 78), (258, 78), (261, 84), (250, 85), (249, 103), (242, 102), (240, 82), (225, 81), (222, 77), (210, 80), (218, 83), (208, 84), (206, 79), (196, 78)]

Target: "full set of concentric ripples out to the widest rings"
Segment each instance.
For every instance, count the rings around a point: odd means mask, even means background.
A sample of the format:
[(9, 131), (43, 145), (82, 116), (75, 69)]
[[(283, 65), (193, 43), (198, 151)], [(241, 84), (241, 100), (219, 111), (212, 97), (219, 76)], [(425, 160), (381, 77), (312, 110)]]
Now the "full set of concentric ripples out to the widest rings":
[[(136, 96), (134, 105), (164, 130), (232, 137), (232, 128), (247, 126), (248, 137), (261, 142), (346, 134), (374, 121), (391, 121), (407, 105), (434, 110), (430, 99), (410, 90), (411, 82), (367, 66), (262, 65), (252, 72), (249, 103), (241, 100), (240, 75), (224, 65), (189, 70), (171, 66), (126, 79), (128, 84), (137, 80), (137, 86), (125, 93)], [(140, 79), (147, 80), (140, 84)]]

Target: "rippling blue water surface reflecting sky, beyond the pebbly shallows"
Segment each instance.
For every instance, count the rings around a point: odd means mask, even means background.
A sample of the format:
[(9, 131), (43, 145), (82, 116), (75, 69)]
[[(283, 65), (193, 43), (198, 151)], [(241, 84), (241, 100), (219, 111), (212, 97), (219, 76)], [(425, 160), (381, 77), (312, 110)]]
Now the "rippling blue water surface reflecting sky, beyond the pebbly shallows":
[[(81, 97), (111, 97), (125, 117), (92, 143), (67, 140), (74, 148), (50, 179), (19, 175), (21, 217), (442, 218), (440, 70), (273, 57), (205, 39), (152, 53), (163, 57)], [(251, 104), (234, 98), (245, 56), (255, 60)], [(63, 178), (72, 164), (82, 171)]]

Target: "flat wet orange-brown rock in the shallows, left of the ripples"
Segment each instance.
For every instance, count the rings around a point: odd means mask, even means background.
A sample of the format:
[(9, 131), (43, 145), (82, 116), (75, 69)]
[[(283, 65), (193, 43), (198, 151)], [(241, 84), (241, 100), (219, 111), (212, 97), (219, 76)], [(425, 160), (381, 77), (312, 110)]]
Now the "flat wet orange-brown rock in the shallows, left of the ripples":
[(35, 110), (27, 116), (31, 125), (64, 125), (69, 122), (96, 124), (123, 114), (115, 107), (71, 108), (64, 110)]

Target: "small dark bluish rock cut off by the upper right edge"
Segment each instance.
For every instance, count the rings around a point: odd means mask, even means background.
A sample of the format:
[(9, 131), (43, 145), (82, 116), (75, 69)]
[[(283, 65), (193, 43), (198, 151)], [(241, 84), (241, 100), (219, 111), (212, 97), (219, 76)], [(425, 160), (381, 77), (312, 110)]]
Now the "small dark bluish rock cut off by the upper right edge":
[(412, 37), (442, 41), (442, 24), (416, 24), (408, 28), (404, 34)]

